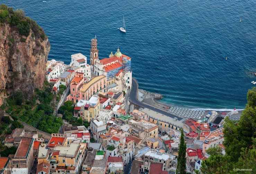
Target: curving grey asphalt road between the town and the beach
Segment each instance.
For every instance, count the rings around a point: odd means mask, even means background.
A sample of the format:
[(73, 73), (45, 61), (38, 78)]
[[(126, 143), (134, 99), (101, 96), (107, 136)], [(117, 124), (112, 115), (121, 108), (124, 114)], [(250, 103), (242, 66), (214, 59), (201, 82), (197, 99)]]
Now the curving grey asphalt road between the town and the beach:
[(134, 78), (132, 78), (132, 89), (130, 91), (130, 96), (129, 96), (130, 102), (132, 102), (132, 103), (134, 103), (134, 104), (136, 104), (138, 106), (141, 106), (143, 108), (148, 108), (150, 110), (156, 111), (158, 113), (161, 113), (161, 114), (166, 115), (166, 116), (171, 117), (171, 118), (176, 117), (177, 120), (182, 120), (183, 119), (183, 118), (181, 118), (179, 116), (176, 116), (176, 115), (174, 115), (172, 113), (169, 113), (169, 112), (166, 112), (164, 110), (158, 109), (158, 108), (156, 108), (154, 106), (151, 106), (149, 104), (145, 104), (145, 103), (140, 102), (137, 99), (138, 87), (139, 87), (138, 82)]

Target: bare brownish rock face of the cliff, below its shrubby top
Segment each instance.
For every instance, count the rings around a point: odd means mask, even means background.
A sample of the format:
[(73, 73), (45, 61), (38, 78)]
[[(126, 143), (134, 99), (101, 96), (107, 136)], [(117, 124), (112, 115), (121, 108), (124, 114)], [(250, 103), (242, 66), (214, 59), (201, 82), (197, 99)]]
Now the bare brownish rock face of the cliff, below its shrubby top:
[(17, 28), (0, 23), (0, 106), (3, 99), (21, 91), (29, 99), (43, 86), (45, 65), (50, 52), (48, 38), (21, 36)]

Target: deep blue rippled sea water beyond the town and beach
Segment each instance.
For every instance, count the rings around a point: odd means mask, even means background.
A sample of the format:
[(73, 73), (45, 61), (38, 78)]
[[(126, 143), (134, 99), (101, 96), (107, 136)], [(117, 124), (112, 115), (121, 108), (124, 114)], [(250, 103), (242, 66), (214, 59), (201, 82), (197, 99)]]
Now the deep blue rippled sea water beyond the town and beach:
[[(244, 108), (256, 76), (255, 0), (0, 0), (43, 27), (49, 59), (100, 58), (120, 51), (132, 58), (139, 88), (162, 102), (194, 108)], [(123, 15), (127, 33), (121, 33)], [(239, 20), (241, 19), (241, 22)], [(227, 57), (227, 61), (225, 58)], [(89, 61), (88, 61), (89, 62)]]

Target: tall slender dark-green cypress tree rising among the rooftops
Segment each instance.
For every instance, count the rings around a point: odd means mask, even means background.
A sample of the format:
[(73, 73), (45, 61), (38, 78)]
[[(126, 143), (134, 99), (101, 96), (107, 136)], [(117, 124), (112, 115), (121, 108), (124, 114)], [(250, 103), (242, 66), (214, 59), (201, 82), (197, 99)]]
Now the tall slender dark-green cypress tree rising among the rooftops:
[(181, 130), (181, 136), (180, 136), (176, 173), (180, 173), (180, 174), (186, 173), (186, 143), (184, 141), (183, 129)]

